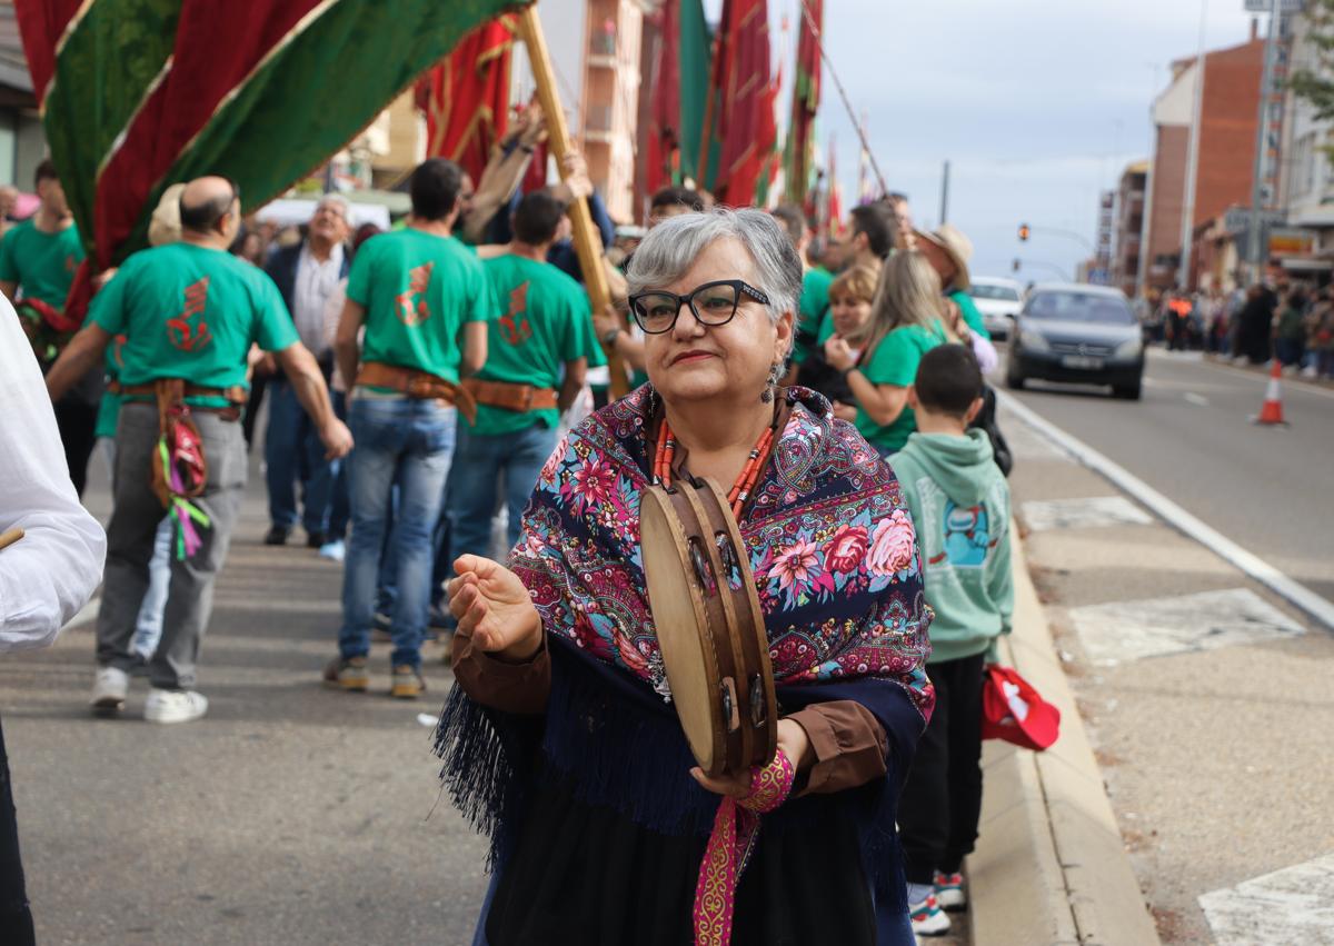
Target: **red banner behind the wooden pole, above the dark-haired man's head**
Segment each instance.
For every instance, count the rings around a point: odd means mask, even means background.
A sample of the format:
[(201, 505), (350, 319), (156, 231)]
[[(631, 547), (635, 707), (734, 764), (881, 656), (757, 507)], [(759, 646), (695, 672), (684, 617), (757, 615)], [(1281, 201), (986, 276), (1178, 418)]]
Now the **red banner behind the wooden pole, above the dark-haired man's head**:
[(516, 32), (512, 16), (490, 20), (418, 80), (427, 156), (458, 161), (474, 181), (482, 179), (491, 148), (508, 123), (510, 53)]

